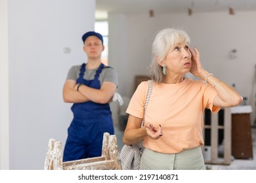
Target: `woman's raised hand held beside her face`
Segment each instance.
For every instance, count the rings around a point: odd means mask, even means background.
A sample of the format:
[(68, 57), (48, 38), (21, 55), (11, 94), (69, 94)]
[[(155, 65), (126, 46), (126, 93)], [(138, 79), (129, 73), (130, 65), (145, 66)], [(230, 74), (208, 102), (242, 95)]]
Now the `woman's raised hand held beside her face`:
[(192, 48), (189, 48), (190, 52), (191, 52), (191, 69), (190, 69), (190, 73), (194, 76), (200, 77), (200, 75), (202, 75), (203, 73), (203, 65), (200, 62), (200, 53), (198, 52), (198, 50), (196, 49), (196, 47), (194, 47), (194, 50), (192, 50)]

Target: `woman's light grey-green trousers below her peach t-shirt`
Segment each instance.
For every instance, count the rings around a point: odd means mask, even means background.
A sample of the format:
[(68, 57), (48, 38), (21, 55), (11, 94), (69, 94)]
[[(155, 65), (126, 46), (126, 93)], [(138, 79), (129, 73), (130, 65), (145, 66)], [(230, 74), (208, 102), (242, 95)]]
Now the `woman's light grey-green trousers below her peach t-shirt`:
[(141, 170), (205, 170), (200, 146), (177, 154), (162, 154), (144, 149), (140, 161)]

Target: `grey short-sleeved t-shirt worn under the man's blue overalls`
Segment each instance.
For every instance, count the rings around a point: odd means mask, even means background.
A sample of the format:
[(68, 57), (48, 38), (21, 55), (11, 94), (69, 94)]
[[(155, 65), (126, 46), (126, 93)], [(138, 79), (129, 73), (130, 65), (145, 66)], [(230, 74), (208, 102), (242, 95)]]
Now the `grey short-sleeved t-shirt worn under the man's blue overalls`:
[[(68, 76), (66, 80), (77, 80), (79, 77), (81, 65), (74, 65), (70, 68), (70, 71), (68, 71)], [(97, 68), (98, 69), (98, 68)], [(97, 69), (86, 69), (85, 74), (83, 75), (83, 78), (85, 80), (93, 80), (95, 78), (95, 73)], [(104, 67), (102, 69), (102, 72), (100, 73), (100, 76), (98, 77), (98, 80), (100, 80), (100, 85), (102, 85), (103, 82), (113, 82), (118, 86), (118, 75), (114, 68), (112, 67)]]

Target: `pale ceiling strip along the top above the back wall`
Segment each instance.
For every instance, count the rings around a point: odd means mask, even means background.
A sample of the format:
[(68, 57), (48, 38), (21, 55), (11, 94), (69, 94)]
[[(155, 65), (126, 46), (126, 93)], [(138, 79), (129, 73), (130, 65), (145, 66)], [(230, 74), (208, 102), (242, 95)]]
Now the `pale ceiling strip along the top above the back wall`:
[(108, 17), (108, 12), (124, 14), (169, 12), (221, 12), (232, 7), (236, 11), (256, 10), (256, 0), (96, 0), (96, 19)]

